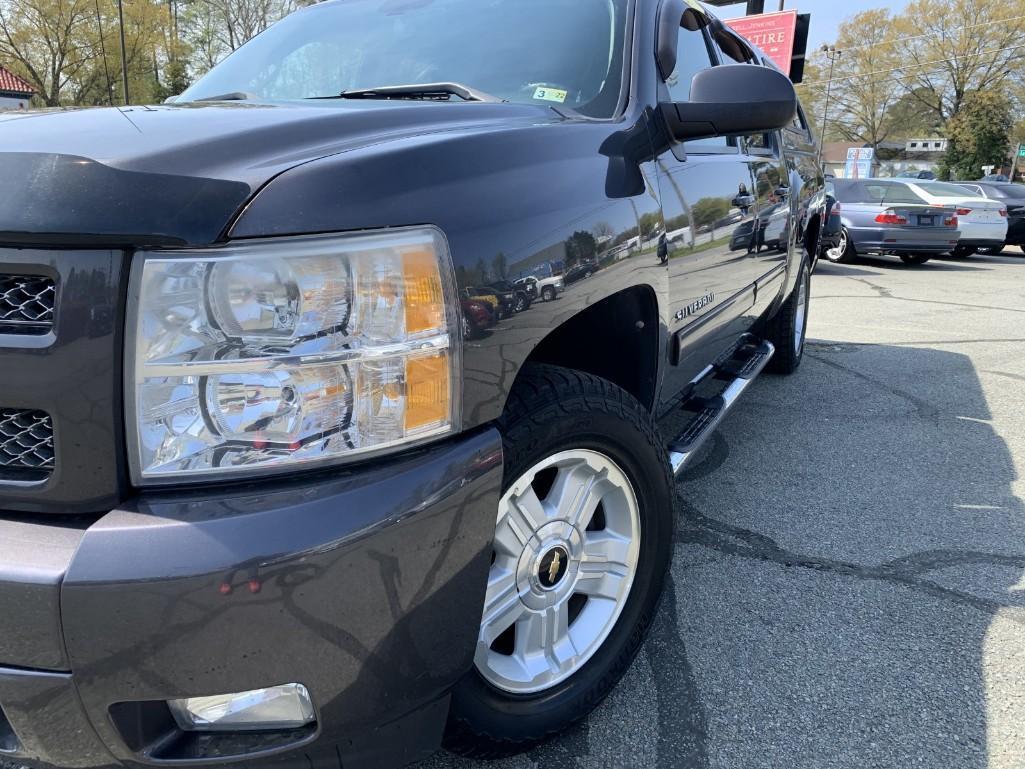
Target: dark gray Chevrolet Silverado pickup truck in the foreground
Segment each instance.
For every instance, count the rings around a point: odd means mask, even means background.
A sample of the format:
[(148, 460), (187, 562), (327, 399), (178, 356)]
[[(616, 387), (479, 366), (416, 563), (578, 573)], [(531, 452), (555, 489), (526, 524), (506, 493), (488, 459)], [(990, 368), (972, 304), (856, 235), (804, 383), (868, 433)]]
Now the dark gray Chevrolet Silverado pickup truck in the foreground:
[(684, 0), (335, 0), (171, 104), (0, 120), (0, 763), (583, 718), (674, 475), (801, 362), (821, 189), (789, 80)]

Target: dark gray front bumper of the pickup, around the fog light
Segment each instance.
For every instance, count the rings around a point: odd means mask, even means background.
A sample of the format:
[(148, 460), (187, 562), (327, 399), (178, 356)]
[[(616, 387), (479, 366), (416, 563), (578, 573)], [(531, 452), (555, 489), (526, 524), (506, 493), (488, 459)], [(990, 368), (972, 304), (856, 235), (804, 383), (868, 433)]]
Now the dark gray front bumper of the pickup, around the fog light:
[[(400, 766), (470, 669), (494, 430), (292, 482), (0, 514), (0, 758), (61, 767)], [(184, 732), (168, 699), (301, 683), (316, 723)]]

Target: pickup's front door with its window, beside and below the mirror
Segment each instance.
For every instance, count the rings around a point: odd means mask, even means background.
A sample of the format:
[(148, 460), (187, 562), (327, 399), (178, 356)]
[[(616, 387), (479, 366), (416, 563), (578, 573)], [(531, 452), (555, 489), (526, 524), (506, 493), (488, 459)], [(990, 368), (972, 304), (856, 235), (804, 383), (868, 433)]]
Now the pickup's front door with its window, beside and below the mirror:
[[(681, 27), (676, 71), (659, 84), (661, 98), (686, 102), (694, 75), (715, 64), (706, 32)], [(669, 256), (667, 398), (754, 321), (757, 189), (740, 145), (713, 137), (656, 158)]]

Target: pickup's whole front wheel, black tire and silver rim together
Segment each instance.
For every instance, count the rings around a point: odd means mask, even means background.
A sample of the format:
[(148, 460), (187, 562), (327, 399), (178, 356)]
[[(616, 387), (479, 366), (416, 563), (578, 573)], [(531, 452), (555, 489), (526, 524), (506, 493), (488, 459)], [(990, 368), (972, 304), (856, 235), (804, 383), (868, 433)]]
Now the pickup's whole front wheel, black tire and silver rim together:
[(655, 616), (675, 518), (654, 421), (615, 385), (531, 366), (498, 427), (506, 481), (483, 618), (445, 736), (476, 758), (525, 751), (612, 690)]

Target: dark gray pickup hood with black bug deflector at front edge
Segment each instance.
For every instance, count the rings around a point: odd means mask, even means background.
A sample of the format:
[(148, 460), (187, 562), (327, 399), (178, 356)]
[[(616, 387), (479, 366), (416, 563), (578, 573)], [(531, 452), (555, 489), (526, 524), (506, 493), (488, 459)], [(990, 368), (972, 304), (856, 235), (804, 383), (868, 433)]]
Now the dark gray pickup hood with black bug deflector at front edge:
[(0, 117), (0, 243), (204, 245), (278, 174), (425, 133), (550, 120), (490, 103), (214, 103)]

